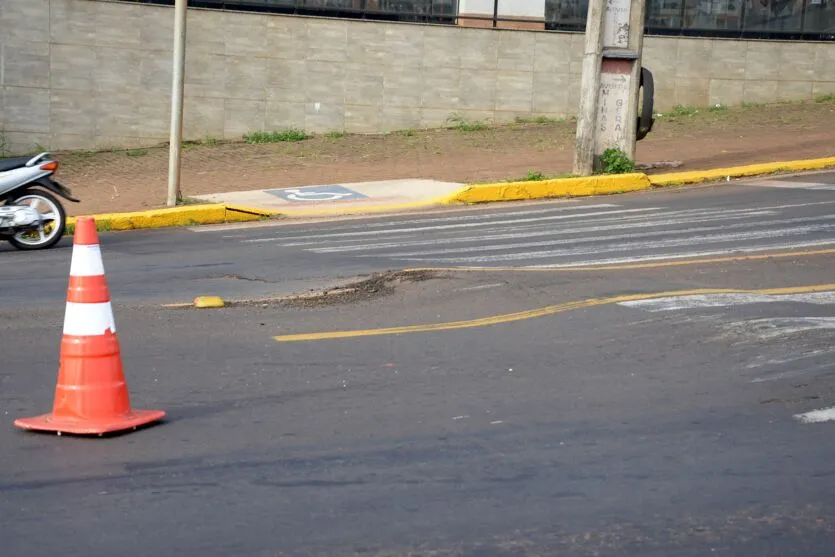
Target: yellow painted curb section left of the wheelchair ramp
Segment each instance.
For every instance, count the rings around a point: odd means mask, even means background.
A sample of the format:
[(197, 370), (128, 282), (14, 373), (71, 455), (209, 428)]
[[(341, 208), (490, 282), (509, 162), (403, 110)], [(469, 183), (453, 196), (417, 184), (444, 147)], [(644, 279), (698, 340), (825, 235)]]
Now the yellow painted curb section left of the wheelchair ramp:
[[(136, 230), (140, 228), (167, 228), (221, 224), (225, 222), (249, 222), (273, 216), (275, 213), (261, 209), (225, 204), (170, 207), (132, 213), (103, 213), (89, 215), (96, 219), (99, 230)], [(67, 219), (67, 226), (75, 226), (76, 217)]]

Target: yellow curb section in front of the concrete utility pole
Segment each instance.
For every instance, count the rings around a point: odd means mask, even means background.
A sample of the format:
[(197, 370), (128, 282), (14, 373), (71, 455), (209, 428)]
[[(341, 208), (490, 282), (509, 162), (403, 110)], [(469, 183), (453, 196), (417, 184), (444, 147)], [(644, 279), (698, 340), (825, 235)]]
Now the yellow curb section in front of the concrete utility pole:
[(539, 182), (476, 184), (453, 194), (450, 203), (490, 203), (553, 197), (608, 195), (646, 190), (651, 187), (643, 173), (606, 174), (578, 178), (554, 178)]

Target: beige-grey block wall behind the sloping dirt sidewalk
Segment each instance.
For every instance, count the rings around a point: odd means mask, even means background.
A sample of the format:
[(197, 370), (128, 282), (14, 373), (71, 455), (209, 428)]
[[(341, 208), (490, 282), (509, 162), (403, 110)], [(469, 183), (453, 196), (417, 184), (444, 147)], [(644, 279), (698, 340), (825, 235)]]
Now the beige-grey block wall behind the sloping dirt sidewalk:
[[(0, 0), (7, 149), (168, 138), (173, 12), (100, 0)], [(288, 127), (381, 132), (450, 116), (574, 114), (582, 34), (189, 10), (185, 137)], [(656, 106), (835, 91), (835, 44), (648, 37)]]

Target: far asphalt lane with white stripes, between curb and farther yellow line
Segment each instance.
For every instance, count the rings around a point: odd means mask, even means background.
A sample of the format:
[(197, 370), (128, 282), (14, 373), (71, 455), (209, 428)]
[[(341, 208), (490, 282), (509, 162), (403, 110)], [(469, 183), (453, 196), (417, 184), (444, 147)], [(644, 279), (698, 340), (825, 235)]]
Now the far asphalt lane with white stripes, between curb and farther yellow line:
[[(103, 233), (115, 300), (291, 294), (375, 271), (426, 266), (537, 267), (647, 262), (835, 245), (835, 194), (728, 185), (343, 222)], [(779, 182), (750, 182), (791, 185)], [(71, 239), (47, 252), (0, 247), (0, 304), (65, 298)]]

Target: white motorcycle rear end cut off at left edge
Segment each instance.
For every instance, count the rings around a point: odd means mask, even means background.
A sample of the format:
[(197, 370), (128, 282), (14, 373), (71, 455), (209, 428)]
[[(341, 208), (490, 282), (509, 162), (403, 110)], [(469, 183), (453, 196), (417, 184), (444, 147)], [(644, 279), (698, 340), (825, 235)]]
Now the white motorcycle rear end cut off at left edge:
[(56, 196), (79, 202), (52, 179), (60, 164), (48, 157), (0, 159), (0, 240), (19, 250), (48, 249), (60, 242), (67, 214)]

